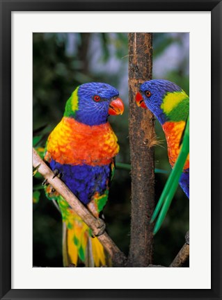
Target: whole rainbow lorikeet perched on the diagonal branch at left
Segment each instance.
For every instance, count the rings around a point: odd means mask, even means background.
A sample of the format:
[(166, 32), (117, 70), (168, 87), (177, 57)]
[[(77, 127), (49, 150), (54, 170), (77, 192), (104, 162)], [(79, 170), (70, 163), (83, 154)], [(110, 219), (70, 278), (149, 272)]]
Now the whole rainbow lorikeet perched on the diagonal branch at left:
[[(61, 122), (50, 133), (45, 160), (95, 217), (100, 217), (115, 169), (119, 146), (109, 115), (122, 115), (124, 105), (116, 88), (106, 83), (85, 83), (72, 92)], [(61, 210), (63, 265), (108, 265), (106, 251), (83, 220), (58, 192), (45, 186), (49, 199)], [(65, 240), (65, 242), (64, 242)]]

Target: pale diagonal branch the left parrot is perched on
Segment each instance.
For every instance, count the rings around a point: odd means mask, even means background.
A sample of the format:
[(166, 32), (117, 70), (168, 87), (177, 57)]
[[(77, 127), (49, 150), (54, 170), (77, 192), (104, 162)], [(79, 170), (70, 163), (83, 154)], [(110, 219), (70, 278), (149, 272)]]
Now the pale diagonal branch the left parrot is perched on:
[[(40, 158), (35, 149), (33, 149), (33, 167), (38, 167), (38, 172), (47, 179), (47, 182), (50, 183), (59, 194), (61, 194), (61, 196), (69, 203), (74, 212), (77, 213), (79, 217), (81, 217), (81, 219), (83, 219), (84, 222), (93, 230), (93, 233), (97, 235), (100, 232), (100, 228), (98, 228), (98, 219), (96, 219), (81, 203), (81, 201), (79, 201), (79, 199), (72, 194), (63, 181), (61, 181), (58, 177), (53, 178), (54, 173)], [(104, 232), (102, 235), (97, 236), (97, 238), (111, 256), (113, 267), (124, 267), (126, 257), (124, 253), (118, 249), (113, 240), (111, 240), (109, 235)]]

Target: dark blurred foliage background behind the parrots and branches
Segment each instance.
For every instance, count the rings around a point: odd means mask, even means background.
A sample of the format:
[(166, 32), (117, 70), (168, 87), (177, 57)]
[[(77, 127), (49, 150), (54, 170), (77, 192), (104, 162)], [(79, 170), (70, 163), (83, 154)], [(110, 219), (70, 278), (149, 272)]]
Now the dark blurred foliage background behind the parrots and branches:
[[(189, 94), (189, 33), (153, 33), (153, 78), (173, 81)], [(65, 102), (72, 91), (90, 81), (113, 85), (125, 102), (125, 113), (109, 117), (109, 122), (120, 144), (116, 161), (130, 163), (127, 33), (33, 33), (33, 144), (45, 147), (47, 136), (63, 117)], [(155, 126), (161, 141), (154, 149), (155, 167), (171, 171), (164, 133), (158, 122)], [(166, 179), (166, 174), (155, 175), (156, 201)], [(41, 182), (37, 174), (33, 178), (33, 265), (63, 267), (61, 215), (47, 200), (44, 190), (39, 190)], [(107, 232), (126, 255), (130, 199), (130, 172), (116, 169), (104, 215)], [(155, 265), (171, 263), (184, 244), (188, 229), (189, 200), (178, 188), (164, 224), (154, 238)]]

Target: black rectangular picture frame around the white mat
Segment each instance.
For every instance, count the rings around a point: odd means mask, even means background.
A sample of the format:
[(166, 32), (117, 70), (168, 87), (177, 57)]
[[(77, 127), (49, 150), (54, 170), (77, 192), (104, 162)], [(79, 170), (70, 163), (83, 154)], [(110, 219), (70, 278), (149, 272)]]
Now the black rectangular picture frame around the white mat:
[[(222, 3), (209, 0), (10, 1), (1, 0), (1, 299), (222, 299), (221, 293), (221, 83)], [(212, 32), (212, 288), (210, 290), (11, 289), (11, 12), (210, 11)], [(188, 21), (189, 22), (189, 21)], [(204, 63), (204, 62), (203, 62)], [(200, 72), (203, 72), (200, 70)], [(203, 92), (204, 94), (204, 92)], [(200, 126), (201, 130), (201, 126)], [(204, 143), (204, 141), (203, 141)], [(201, 151), (201, 149), (200, 149)], [(203, 241), (204, 244), (205, 241)], [(204, 262), (203, 262), (204, 263)], [(198, 279), (197, 279), (198, 280)]]

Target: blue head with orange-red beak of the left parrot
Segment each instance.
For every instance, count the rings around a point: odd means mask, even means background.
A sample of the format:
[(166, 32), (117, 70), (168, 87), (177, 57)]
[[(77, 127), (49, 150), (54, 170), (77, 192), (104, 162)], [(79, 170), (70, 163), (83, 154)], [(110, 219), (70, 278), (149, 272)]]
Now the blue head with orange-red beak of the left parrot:
[(119, 92), (107, 83), (84, 83), (74, 90), (65, 106), (64, 117), (86, 125), (107, 122), (109, 115), (122, 115), (124, 105)]

